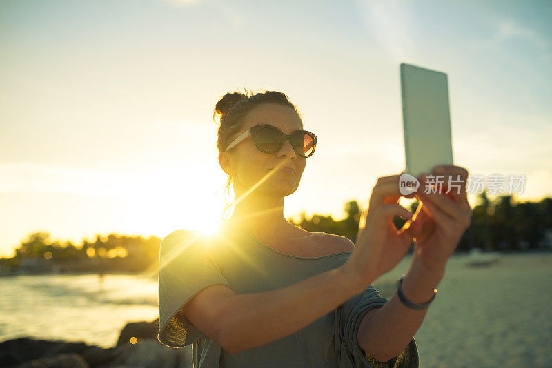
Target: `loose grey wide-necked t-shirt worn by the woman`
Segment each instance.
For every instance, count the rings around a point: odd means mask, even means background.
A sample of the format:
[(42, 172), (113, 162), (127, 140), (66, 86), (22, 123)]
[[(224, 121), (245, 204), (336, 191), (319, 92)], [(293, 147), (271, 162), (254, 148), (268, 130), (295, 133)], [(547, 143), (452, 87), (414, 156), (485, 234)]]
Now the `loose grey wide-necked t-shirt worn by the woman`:
[(418, 367), (414, 338), (402, 353), (377, 362), (357, 343), (366, 312), (388, 302), (368, 286), (334, 311), (279, 340), (230, 354), (197, 329), (182, 306), (210, 285), (236, 294), (265, 292), (293, 285), (343, 265), (351, 252), (301, 257), (264, 245), (248, 232), (221, 229), (215, 236), (176, 230), (159, 252), (159, 334), (169, 347), (193, 345), (194, 367)]

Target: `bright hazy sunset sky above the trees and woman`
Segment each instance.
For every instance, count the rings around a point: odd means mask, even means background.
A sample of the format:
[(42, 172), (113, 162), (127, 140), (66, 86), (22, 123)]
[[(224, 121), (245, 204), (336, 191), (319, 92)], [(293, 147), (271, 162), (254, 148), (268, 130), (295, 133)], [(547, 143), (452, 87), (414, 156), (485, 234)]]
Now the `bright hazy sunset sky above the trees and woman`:
[(364, 208), (404, 170), (400, 63), (448, 74), (455, 165), (552, 196), (550, 19), (549, 1), (0, 0), (0, 256), (38, 231), (219, 221), (213, 109), (244, 88), (286, 93), (318, 137), (286, 218)]

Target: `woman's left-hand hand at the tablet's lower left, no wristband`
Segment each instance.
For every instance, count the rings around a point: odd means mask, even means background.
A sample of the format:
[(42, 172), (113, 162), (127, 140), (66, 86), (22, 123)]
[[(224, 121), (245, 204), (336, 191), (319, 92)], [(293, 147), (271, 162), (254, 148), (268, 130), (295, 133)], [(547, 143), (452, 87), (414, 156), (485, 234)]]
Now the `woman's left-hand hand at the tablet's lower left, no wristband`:
[[(344, 270), (360, 285), (393, 269), (412, 245), (408, 226), (397, 231), (394, 216), (410, 219), (412, 213), (398, 204), (399, 175), (382, 176), (373, 187), (368, 208), (362, 212), (355, 239), (355, 249)], [(413, 198), (414, 194), (406, 196)]]

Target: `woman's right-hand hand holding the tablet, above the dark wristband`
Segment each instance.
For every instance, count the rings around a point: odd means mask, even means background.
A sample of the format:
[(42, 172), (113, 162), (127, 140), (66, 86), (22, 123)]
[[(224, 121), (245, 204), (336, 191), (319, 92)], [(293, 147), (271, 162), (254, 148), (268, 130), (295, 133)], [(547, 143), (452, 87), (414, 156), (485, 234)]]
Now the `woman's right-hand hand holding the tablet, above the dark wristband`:
[[(421, 203), (405, 226), (409, 227), (415, 241), (413, 263), (419, 262), (426, 269), (444, 272), (446, 262), (471, 223), (472, 210), (466, 192), (468, 170), (455, 165), (433, 167), (433, 176), (444, 176), (442, 187), (437, 185), (435, 191), (430, 191), (435, 185), (425, 185), (424, 174), (418, 178), (420, 188), (415, 192)], [(428, 182), (435, 184), (435, 177)]]

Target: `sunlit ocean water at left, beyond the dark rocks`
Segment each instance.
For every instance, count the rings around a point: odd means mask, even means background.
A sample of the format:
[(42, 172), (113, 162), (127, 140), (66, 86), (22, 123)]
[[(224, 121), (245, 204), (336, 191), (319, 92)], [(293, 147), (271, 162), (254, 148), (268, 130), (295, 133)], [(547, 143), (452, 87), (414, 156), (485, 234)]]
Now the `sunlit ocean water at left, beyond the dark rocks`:
[(157, 297), (152, 276), (0, 277), (0, 341), (28, 336), (113, 347), (126, 323), (159, 317)]

